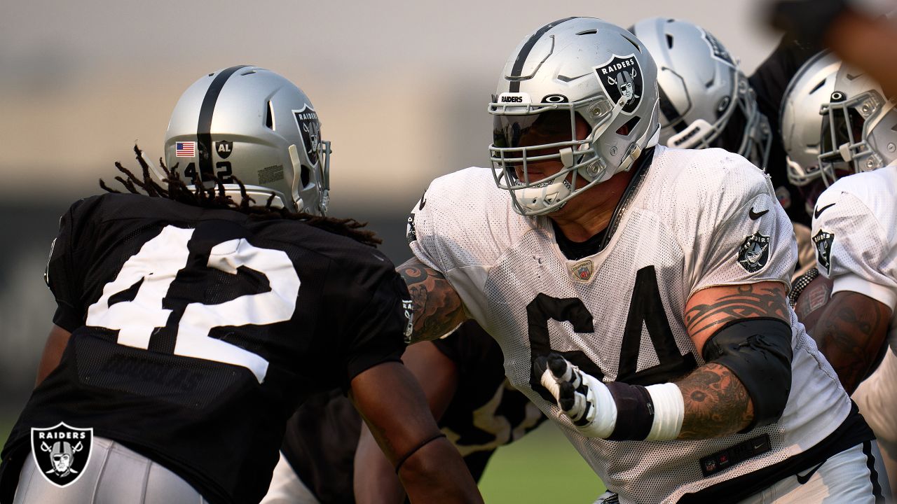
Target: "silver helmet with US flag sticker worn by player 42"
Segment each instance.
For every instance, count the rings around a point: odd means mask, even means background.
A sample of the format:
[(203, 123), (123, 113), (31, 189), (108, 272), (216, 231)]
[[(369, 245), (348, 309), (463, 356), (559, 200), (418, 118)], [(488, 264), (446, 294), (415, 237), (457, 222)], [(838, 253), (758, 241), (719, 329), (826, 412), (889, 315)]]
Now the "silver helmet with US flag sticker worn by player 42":
[(257, 66), (204, 75), (181, 95), (165, 134), (165, 162), (187, 183), (212, 175), (239, 201), (239, 180), (256, 204), (327, 213), (330, 143), (318, 113), (293, 83)]

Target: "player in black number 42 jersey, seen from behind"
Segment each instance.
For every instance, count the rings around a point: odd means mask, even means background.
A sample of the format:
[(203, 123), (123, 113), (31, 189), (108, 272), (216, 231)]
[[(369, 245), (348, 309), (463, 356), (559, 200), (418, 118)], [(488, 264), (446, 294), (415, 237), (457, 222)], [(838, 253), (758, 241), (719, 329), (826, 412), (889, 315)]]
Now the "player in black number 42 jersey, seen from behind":
[(58, 308), (0, 501), (257, 502), (289, 416), (333, 387), (413, 499), (481, 501), (399, 360), (405, 282), (372, 234), (324, 216), (329, 143), (305, 94), (254, 66), (208, 74), (165, 149), (167, 187), (138, 155), (131, 194), (60, 222)]

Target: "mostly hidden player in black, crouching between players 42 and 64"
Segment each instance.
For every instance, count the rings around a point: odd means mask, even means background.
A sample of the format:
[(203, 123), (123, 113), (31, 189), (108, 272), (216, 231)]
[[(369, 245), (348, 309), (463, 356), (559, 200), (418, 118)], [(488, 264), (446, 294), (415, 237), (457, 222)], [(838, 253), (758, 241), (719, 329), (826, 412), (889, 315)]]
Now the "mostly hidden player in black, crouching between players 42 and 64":
[[(477, 481), (497, 448), (545, 420), (536, 404), (510, 387), (501, 348), (474, 321), (446, 338), (409, 346), (402, 361)], [(302, 404), (287, 424), (281, 450), (263, 504), (405, 499), (392, 465), (341, 391)]]

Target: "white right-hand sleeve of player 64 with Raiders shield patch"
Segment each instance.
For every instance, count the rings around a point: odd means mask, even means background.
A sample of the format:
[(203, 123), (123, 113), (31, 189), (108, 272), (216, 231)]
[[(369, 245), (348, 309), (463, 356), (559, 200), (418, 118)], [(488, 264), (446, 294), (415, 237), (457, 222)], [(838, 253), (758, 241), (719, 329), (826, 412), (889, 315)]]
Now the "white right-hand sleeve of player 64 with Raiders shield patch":
[[(674, 152), (675, 153), (675, 152)], [(690, 152), (675, 180), (671, 219), (684, 248), (688, 297), (716, 285), (775, 281), (789, 285), (797, 242), (769, 178), (720, 149)]]

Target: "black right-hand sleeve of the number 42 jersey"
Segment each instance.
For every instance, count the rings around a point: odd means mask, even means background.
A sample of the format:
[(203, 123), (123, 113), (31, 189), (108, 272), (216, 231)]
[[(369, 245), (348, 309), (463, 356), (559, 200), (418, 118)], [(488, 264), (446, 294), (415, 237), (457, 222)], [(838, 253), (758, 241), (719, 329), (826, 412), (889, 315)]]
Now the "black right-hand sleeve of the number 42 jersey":
[(344, 354), (346, 383), (382, 362), (400, 361), (405, 352), (405, 329), (412, 317), (412, 312), (405, 308), (411, 300), (408, 288), (393, 269), (380, 273), (376, 283), (348, 335)]

